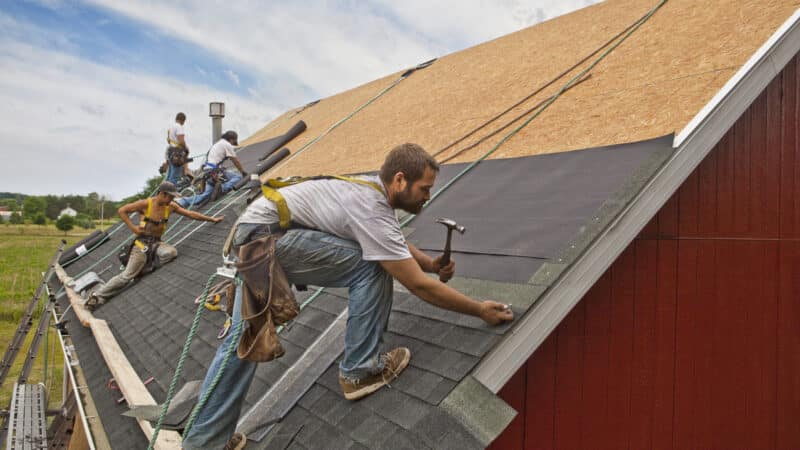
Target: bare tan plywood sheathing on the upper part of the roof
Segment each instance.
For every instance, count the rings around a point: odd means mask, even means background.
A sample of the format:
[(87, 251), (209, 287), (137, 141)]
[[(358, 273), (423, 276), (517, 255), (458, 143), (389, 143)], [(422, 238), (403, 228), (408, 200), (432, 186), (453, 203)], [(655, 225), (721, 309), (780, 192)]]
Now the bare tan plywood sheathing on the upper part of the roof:
[[(656, 4), (609, 0), (440, 58), (269, 175), (376, 170), (386, 152), (402, 142), (434, 152), (550, 81)], [(670, 0), (596, 66), (590, 79), (566, 92), (491, 158), (621, 144), (680, 131), (798, 5), (785, 0)], [(304, 120), (308, 130), (290, 143), (290, 148), (300, 148), (399, 74), (323, 99), (291, 120), (284, 115), (277, 120), (285, 123), (267, 125), (247, 142), (268, 139)], [(442, 157), (546, 99), (572, 74)], [(453, 162), (477, 159), (507, 131)]]

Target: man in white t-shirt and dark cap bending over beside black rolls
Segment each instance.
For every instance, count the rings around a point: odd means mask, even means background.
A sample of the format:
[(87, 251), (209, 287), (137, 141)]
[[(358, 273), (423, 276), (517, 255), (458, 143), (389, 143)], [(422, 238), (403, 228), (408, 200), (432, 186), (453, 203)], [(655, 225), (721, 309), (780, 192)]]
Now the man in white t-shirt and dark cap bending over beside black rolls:
[[(239, 158), (236, 157), (235, 150), (237, 145), (239, 145), (239, 136), (235, 131), (229, 130), (223, 133), (217, 143), (211, 146), (206, 156), (206, 163), (203, 164), (203, 170), (208, 174), (205, 189), (200, 194), (179, 199), (177, 203), (184, 208), (191, 208), (192, 206), (203, 204), (203, 202), (211, 197), (211, 193), (214, 191), (214, 178), (222, 174), (224, 174), (225, 182), (221, 186), (220, 194), (230, 191), (239, 180), (246, 177), (247, 172), (245, 172), (242, 167)], [(230, 160), (239, 172), (223, 169), (222, 163), (226, 160)]]

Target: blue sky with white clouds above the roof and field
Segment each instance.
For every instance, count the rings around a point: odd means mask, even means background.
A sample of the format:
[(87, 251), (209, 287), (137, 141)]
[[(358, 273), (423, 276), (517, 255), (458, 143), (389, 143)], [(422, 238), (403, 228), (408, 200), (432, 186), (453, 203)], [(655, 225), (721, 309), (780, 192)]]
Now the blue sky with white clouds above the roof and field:
[(284, 111), (596, 0), (2, 0), (0, 192), (119, 200), (192, 153), (208, 104), (240, 140)]

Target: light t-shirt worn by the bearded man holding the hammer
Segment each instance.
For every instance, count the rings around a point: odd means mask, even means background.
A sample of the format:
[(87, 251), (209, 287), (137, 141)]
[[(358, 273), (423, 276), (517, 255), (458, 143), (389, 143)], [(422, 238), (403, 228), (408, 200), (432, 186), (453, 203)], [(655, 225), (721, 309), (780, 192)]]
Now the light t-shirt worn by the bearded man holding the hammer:
[[(280, 190), (292, 221), (300, 225), (358, 242), (366, 261), (396, 261), (411, 258), (406, 238), (394, 209), (389, 206), (377, 176), (362, 179), (374, 188), (343, 180), (312, 180)], [(275, 205), (260, 197), (247, 207), (239, 223), (278, 222)]]

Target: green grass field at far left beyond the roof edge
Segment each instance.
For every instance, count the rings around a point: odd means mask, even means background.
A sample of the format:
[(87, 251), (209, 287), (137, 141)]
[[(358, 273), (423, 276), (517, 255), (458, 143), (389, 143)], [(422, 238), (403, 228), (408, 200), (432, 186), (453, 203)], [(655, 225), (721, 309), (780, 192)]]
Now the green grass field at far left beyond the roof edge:
[[(14, 336), (19, 320), (33, 298), (61, 239), (65, 239), (69, 247), (90, 232), (91, 230), (78, 228), (65, 236), (63, 231), (52, 225), (0, 225), (0, 348), (3, 351)], [(47, 301), (47, 296), (42, 295), (41, 301)], [(15, 364), (0, 389), (0, 409), (7, 408), (11, 401), (11, 390), (33, 339), (40, 310), (41, 307), (37, 308), (25, 346), (17, 355)], [(42, 339), (42, 346), (28, 382), (45, 383), (50, 392), (50, 407), (56, 407), (61, 403), (63, 357), (58, 337), (52, 328), (47, 339), (47, 379), (44, 374), (44, 342)]]

